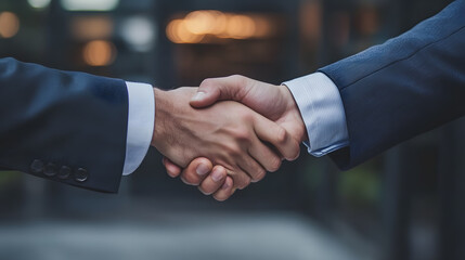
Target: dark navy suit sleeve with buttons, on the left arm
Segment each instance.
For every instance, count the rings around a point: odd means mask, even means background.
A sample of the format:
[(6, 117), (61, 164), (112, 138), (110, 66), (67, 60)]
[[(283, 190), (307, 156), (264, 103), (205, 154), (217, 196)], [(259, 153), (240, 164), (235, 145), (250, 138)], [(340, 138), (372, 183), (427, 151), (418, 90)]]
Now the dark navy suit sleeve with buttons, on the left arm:
[(126, 82), (0, 58), (0, 168), (117, 192)]

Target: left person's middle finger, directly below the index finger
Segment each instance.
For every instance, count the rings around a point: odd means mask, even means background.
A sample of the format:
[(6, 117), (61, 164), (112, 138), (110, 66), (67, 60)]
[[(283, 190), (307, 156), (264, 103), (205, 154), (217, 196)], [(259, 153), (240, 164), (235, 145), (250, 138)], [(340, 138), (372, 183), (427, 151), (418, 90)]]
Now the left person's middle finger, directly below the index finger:
[(263, 144), (258, 138), (253, 140), (248, 150), (250, 156), (256, 159), (267, 171), (276, 171), (281, 167), (281, 155), (276, 154), (268, 145)]

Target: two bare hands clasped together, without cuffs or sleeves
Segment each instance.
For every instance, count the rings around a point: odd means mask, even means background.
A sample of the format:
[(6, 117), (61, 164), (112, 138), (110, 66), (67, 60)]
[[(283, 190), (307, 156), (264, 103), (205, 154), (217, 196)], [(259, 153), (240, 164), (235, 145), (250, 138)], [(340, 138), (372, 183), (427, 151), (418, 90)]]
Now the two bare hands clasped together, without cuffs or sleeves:
[(306, 127), (290, 91), (243, 76), (155, 89), (152, 146), (170, 177), (228, 199), (299, 156)]

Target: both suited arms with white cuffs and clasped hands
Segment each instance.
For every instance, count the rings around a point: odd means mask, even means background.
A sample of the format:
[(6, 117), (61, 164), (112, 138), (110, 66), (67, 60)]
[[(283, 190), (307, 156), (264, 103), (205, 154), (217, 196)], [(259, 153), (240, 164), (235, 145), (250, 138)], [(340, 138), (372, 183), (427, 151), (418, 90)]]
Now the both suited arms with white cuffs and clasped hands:
[(286, 86), (231, 76), (152, 91), (0, 58), (0, 171), (117, 192), (151, 143), (169, 176), (224, 200), (296, 159), (303, 141), (311, 155), (350, 169), (465, 116), (464, 12), (455, 1)]

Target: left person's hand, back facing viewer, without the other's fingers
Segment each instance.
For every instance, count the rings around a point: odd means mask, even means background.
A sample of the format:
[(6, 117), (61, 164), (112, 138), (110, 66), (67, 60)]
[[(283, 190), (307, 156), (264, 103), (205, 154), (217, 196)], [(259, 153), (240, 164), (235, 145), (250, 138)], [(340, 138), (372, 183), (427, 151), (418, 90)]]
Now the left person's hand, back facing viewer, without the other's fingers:
[(225, 168), (235, 187), (244, 188), (281, 165), (281, 156), (260, 140), (284, 156), (298, 153), (298, 143), (282, 127), (238, 103), (192, 108), (189, 101), (195, 92), (195, 88), (155, 89), (152, 145), (172, 162), (185, 167), (196, 157), (207, 157)]

